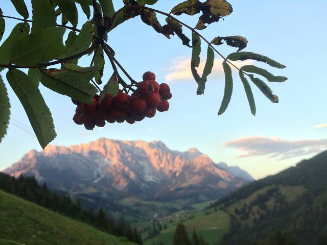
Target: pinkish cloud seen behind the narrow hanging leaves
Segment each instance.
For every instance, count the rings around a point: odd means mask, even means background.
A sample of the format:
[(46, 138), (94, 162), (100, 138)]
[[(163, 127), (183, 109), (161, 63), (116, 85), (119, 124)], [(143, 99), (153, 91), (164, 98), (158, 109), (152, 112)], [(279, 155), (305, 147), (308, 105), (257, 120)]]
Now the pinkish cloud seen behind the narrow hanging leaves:
[[(222, 58), (215, 59), (214, 67), (213, 67), (211, 75), (209, 75), (209, 78), (221, 78), (224, 76), (222, 62), (223, 62)], [(233, 62), (233, 64), (241, 67), (243, 65), (251, 64), (252, 62), (253, 61), (251, 61), (251, 60), (236, 61), (236, 62)], [(193, 81), (190, 64), (191, 64), (191, 59), (189, 59), (189, 58), (188, 59), (176, 58), (172, 62), (172, 65), (168, 68), (168, 74), (165, 76), (166, 81), (170, 82), (170, 83)], [(200, 75), (202, 74), (204, 65), (205, 65), (205, 58), (202, 58), (200, 65), (197, 68), (198, 73)], [(235, 68), (233, 68), (233, 69), (235, 69)]]

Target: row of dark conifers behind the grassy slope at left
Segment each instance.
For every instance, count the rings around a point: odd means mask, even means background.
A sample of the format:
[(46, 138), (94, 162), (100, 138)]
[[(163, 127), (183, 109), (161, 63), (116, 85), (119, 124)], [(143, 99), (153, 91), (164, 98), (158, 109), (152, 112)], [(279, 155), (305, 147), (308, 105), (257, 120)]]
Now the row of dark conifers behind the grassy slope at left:
[(92, 209), (83, 209), (79, 198), (74, 202), (68, 194), (59, 194), (50, 190), (45, 183), (40, 186), (34, 177), (20, 176), (16, 179), (0, 173), (0, 189), (70, 218), (88, 223), (101, 231), (115, 236), (125, 236), (132, 242), (143, 244), (137, 229), (132, 230), (130, 224), (123, 219), (115, 221), (102, 208), (97, 213)]

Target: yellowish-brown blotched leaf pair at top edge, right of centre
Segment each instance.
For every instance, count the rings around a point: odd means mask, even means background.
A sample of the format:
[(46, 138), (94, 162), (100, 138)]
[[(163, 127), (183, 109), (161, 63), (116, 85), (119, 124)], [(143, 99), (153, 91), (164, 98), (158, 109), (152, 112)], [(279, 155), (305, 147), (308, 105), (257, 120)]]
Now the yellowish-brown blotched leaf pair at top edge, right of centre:
[(171, 13), (175, 15), (195, 15), (202, 11), (202, 15), (196, 24), (196, 29), (206, 28), (205, 24), (217, 22), (221, 17), (229, 15), (233, 9), (226, 0), (207, 0), (204, 3), (199, 0), (188, 0), (176, 5)]

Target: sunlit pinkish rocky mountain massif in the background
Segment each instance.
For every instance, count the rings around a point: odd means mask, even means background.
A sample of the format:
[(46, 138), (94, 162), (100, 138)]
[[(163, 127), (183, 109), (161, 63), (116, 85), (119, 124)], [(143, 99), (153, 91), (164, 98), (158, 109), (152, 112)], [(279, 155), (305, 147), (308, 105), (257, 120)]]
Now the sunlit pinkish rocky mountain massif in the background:
[(71, 194), (143, 197), (149, 200), (221, 197), (249, 182), (215, 164), (196, 149), (172, 151), (161, 141), (100, 138), (87, 144), (30, 151), (4, 170), (32, 175)]

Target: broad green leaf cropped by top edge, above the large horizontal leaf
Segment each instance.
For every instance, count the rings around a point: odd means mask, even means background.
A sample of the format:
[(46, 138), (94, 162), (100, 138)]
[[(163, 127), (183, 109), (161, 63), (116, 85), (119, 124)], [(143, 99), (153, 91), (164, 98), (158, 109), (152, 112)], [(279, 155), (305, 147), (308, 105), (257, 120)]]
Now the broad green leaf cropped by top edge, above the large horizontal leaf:
[(56, 26), (55, 8), (50, 4), (50, 1), (32, 0), (32, 8), (32, 33)]

